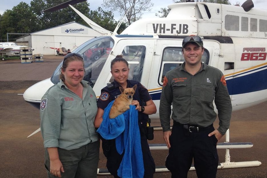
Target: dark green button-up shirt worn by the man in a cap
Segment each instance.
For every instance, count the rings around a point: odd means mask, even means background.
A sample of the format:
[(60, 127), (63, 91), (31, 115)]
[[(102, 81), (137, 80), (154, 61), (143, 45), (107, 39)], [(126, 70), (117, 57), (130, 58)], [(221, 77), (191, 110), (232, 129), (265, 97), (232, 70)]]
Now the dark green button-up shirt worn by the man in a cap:
[(192, 76), (186, 72), (185, 63), (166, 73), (160, 98), (160, 122), (163, 131), (170, 130), (172, 119), (181, 124), (200, 127), (211, 125), (217, 117), (218, 131), (224, 135), (230, 125), (232, 105), (222, 72), (202, 63), (201, 70)]

